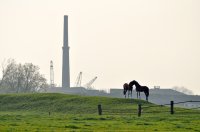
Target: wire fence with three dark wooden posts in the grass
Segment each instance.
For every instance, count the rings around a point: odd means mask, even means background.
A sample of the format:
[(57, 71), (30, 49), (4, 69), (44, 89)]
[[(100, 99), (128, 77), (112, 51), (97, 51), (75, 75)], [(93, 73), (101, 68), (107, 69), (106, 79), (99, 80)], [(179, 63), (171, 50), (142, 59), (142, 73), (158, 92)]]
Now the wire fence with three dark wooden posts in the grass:
[[(102, 108), (101, 105), (98, 105), (98, 113), (99, 115), (133, 115), (136, 114), (138, 116), (141, 116), (142, 114), (150, 114), (150, 113), (169, 113), (169, 114), (184, 114), (184, 113), (191, 113), (191, 114), (200, 114), (200, 107), (194, 107), (194, 108), (180, 108), (180, 107), (174, 107), (174, 105), (182, 104), (182, 103), (189, 103), (189, 102), (195, 102), (200, 103), (200, 101), (184, 101), (184, 102), (174, 102), (171, 101), (169, 104), (162, 104), (162, 105), (146, 105), (138, 104), (137, 108), (128, 108), (128, 109), (111, 109), (111, 108)], [(130, 105), (130, 104), (129, 104)], [(159, 109), (155, 109), (155, 108)], [(167, 110), (167, 108), (169, 108)], [(193, 109), (193, 110), (191, 110)]]

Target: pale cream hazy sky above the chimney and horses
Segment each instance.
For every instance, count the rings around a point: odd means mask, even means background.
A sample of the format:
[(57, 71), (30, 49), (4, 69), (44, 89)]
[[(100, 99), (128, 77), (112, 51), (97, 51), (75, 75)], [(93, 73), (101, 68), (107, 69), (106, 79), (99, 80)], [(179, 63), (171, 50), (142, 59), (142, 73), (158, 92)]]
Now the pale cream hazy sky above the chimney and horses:
[[(63, 19), (69, 16), (73, 86), (96, 89), (137, 80), (200, 94), (199, 0), (0, 0), (0, 63), (31, 62), (61, 85)], [(2, 73), (0, 73), (2, 76)]]

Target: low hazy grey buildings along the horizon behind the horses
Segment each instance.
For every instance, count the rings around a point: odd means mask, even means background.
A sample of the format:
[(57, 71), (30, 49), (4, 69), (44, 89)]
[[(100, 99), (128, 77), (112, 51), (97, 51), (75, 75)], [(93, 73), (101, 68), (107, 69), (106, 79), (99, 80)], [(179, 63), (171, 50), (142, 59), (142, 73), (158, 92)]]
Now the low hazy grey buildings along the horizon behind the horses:
[[(124, 98), (123, 89), (111, 88), (110, 93), (106, 93), (100, 90), (92, 90), (86, 89), (84, 87), (71, 87), (71, 88), (49, 88), (47, 89), (49, 93), (67, 93), (67, 94), (79, 94), (79, 95), (87, 95), (87, 96), (109, 96), (116, 98)], [(186, 95), (184, 93), (178, 92), (173, 89), (150, 89), (149, 91), (149, 101), (155, 104), (169, 104), (170, 101), (174, 102), (182, 102), (189, 100), (200, 100), (200, 96), (194, 95)], [(145, 100), (145, 94), (143, 92), (140, 93), (141, 99)], [(133, 89), (132, 98), (137, 98), (137, 93), (135, 89)], [(199, 106), (199, 103), (187, 103), (187, 104), (177, 104), (176, 106), (181, 107), (196, 107)]]

